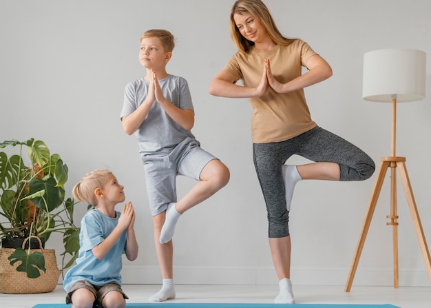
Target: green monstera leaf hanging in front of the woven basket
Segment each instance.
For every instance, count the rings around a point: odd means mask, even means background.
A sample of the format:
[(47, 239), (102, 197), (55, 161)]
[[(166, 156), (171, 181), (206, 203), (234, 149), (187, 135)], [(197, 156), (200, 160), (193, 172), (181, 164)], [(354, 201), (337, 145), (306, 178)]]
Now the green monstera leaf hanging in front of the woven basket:
[(21, 262), (17, 267), (17, 271), (25, 271), (28, 278), (38, 278), (41, 276), (40, 270), (46, 273), (45, 257), (39, 251), (28, 254), (24, 249), (17, 248), (8, 257), (8, 260), (10, 260), (10, 265), (12, 266), (17, 262)]

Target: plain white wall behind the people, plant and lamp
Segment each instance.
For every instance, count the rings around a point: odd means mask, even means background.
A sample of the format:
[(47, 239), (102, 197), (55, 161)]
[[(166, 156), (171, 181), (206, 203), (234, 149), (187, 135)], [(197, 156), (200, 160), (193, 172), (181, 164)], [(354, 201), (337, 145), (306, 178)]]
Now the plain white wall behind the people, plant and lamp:
[[(140, 256), (125, 261), (125, 283), (160, 283), (143, 166), (134, 136), (123, 133), (123, 88), (145, 74), (140, 34), (166, 28), (177, 38), (171, 74), (189, 81), (196, 134), (231, 170), (218, 194), (183, 216), (176, 229), (176, 283), (263, 283), (277, 279), (266, 238), (266, 212), (251, 156), (246, 99), (208, 94), (235, 52), (229, 37), (233, 1), (0, 1), (0, 139), (34, 137), (63, 156), (69, 189), (108, 167), (125, 185), (138, 215)], [(361, 99), (363, 54), (381, 48), (428, 53), (428, 97), (399, 104), (397, 154), (407, 167), (431, 243), (431, 3), (428, 0), (266, 0), (280, 30), (307, 41), (333, 67), (328, 81), (306, 89), (317, 123), (364, 149), (376, 164), (390, 156), (390, 104)], [(304, 160), (295, 158), (296, 163)], [(291, 212), (292, 279), (344, 285), (375, 175), (360, 183), (303, 181)], [(354, 285), (392, 285), (389, 172)], [(180, 178), (179, 194), (193, 181)], [(401, 285), (430, 285), (406, 198), (399, 185)], [(76, 220), (85, 213), (78, 205)], [(54, 243), (48, 243), (54, 245)], [(60, 247), (59, 240), (54, 247)]]

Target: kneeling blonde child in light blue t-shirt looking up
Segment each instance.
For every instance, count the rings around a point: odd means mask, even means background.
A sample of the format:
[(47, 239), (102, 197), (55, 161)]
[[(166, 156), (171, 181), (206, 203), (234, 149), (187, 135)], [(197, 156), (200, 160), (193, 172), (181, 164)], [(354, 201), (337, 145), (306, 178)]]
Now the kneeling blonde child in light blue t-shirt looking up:
[(138, 243), (132, 203), (126, 203), (121, 214), (115, 210), (118, 203), (125, 201), (123, 189), (108, 170), (85, 174), (73, 189), (76, 199), (94, 208), (81, 220), (81, 247), (76, 265), (64, 278), (66, 303), (72, 302), (72, 308), (124, 308), (126, 305), (128, 297), (121, 289), (121, 256), (125, 251), (128, 260), (135, 260)]

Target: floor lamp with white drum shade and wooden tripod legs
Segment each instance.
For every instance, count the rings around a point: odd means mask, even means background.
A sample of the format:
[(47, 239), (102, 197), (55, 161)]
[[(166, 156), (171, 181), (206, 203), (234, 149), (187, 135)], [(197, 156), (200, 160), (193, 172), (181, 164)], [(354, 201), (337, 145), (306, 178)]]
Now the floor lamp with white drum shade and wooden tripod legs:
[(420, 50), (385, 49), (375, 50), (364, 54), (364, 74), (362, 96), (366, 101), (392, 103), (392, 152), (391, 156), (382, 157), (377, 179), (368, 204), (368, 209), (361, 228), (361, 233), (355, 250), (353, 263), (350, 267), (344, 291), (349, 292), (352, 287), (355, 271), (359, 263), (362, 248), (370, 227), (372, 214), (377, 205), (377, 199), (383, 185), (386, 171), (390, 168), (390, 221), (386, 225), (392, 226), (393, 258), (394, 258), (394, 287), (398, 282), (398, 215), (397, 215), (397, 172), (401, 177), (404, 194), (406, 194), (408, 208), (413, 219), (414, 229), (419, 239), (425, 266), (431, 280), (430, 251), (423, 234), (421, 220), (417, 212), (416, 202), (410, 185), (406, 169), (406, 158), (395, 155), (395, 132), (397, 102), (419, 101), (425, 98), (425, 61), (426, 54)]

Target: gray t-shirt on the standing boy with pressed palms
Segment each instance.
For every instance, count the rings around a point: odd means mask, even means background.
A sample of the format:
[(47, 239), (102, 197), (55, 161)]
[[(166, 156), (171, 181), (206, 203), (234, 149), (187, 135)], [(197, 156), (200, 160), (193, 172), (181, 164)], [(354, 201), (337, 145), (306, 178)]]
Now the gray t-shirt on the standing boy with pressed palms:
[[(187, 81), (179, 76), (168, 75), (159, 80), (165, 98), (180, 109), (193, 110), (193, 103)], [(128, 83), (125, 87), (123, 109), (120, 118), (134, 112), (145, 100), (148, 94), (149, 81), (142, 78)], [(178, 123), (154, 101), (147, 117), (134, 133), (138, 138), (141, 155), (154, 153), (169, 153), (187, 137), (195, 138), (190, 131), (182, 128)]]

